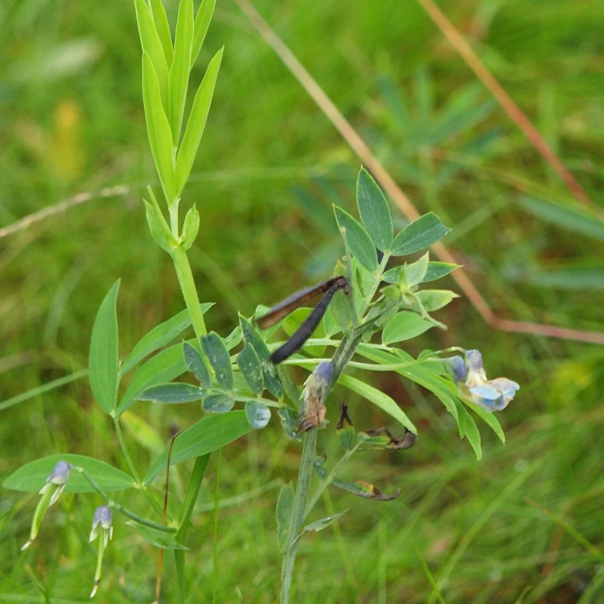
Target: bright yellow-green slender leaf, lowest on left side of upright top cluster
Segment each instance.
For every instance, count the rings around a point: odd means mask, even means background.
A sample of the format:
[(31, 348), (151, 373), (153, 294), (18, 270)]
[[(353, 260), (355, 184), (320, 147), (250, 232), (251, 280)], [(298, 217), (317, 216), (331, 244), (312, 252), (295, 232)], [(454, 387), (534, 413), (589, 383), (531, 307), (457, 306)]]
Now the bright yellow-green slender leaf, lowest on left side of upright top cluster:
[(164, 189), (165, 198), (168, 204), (172, 204), (179, 194), (175, 192), (172, 131), (161, 104), (158, 77), (147, 53), (143, 53), (143, 104), (155, 167)]

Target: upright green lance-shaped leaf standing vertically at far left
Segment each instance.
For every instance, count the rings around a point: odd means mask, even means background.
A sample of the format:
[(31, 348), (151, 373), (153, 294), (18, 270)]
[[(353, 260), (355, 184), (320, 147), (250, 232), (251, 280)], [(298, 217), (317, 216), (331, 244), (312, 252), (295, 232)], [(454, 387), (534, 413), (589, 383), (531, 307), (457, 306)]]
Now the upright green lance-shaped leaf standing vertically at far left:
[(90, 338), (88, 371), (92, 394), (105, 413), (115, 409), (118, 377), (117, 292), (118, 279), (98, 308)]

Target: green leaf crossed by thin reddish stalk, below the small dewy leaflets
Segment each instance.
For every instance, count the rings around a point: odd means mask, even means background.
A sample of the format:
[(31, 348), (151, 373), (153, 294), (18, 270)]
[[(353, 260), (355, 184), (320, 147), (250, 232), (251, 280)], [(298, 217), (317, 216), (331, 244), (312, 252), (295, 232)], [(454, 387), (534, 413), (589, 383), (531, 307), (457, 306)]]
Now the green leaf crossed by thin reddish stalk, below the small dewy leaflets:
[[(176, 437), (170, 465), (216, 451), (247, 434), (251, 429), (245, 411), (230, 411), (204, 417)], [(165, 468), (167, 458), (166, 448), (144, 477), (143, 483), (146, 486)]]

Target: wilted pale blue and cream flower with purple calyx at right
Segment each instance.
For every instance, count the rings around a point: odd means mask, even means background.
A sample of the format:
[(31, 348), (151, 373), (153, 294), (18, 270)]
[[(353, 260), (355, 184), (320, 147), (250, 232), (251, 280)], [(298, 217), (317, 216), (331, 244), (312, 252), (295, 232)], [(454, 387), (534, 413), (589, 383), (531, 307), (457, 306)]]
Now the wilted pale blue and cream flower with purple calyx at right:
[(507, 377), (487, 379), (483, 355), (479, 350), (466, 350), (466, 359), (454, 356), (443, 359), (457, 388), (467, 400), (485, 411), (501, 411), (513, 399), (520, 386)]

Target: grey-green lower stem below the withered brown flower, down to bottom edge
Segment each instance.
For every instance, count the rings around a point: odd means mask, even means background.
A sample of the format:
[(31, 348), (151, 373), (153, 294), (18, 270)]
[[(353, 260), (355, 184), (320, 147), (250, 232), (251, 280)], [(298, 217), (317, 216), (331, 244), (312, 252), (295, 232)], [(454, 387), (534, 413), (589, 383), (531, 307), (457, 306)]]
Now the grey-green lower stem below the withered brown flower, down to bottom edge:
[(283, 567), (281, 568), (281, 596), (279, 600), (281, 604), (289, 604), (289, 592), (294, 577), (294, 565), (298, 550), (298, 535), (302, 528), (302, 522), (304, 522), (304, 509), (306, 508), (310, 478), (312, 477), (312, 461), (315, 458), (317, 436), (318, 432), (316, 430), (306, 432), (306, 435), (304, 435), (294, 509), (292, 510), (292, 522), (289, 525), (288, 544), (283, 556)]

